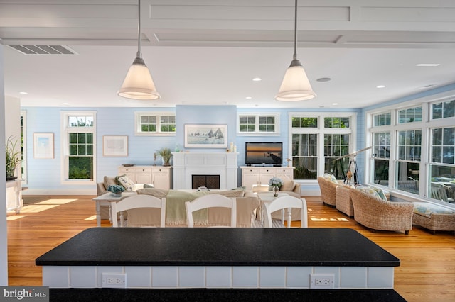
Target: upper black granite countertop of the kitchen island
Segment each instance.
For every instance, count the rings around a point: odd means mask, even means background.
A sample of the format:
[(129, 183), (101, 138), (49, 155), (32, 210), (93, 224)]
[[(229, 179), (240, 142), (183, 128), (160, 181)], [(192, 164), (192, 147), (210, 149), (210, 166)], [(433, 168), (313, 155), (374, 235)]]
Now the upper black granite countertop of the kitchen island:
[(90, 228), (36, 265), (397, 267), (348, 228)]

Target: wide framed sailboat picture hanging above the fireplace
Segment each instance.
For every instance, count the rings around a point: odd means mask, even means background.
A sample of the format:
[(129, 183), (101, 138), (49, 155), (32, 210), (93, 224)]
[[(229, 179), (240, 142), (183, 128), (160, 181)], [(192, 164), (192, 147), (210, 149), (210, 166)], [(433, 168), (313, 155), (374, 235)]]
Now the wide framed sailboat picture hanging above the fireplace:
[(185, 125), (186, 148), (228, 147), (228, 125)]

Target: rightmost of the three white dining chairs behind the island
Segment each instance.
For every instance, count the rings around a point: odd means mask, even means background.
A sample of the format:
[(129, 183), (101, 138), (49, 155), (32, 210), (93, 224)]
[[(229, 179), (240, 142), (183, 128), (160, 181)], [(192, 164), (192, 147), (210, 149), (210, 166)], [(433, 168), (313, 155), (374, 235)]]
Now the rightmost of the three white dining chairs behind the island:
[[(286, 211), (287, 227), (291, 228), (291, 208), (301, 208), (301, 228), (308, 228), (308, 211), (306, 209), (305, 198), (296, 198), (294, 196), (280, 196), (273, 201), (264, 202), (264, 228), (272, 228), (272, 213), (274, 211)], [(282, 214), (284, 220), (284, 214)], [(284, 223), (284, 221), (282, 221)]]

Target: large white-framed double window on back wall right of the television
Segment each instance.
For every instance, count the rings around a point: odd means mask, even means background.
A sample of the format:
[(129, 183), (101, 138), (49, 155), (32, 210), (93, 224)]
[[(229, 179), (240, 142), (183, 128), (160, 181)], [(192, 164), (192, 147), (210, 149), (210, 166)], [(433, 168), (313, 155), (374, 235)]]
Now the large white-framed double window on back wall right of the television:
[(344, 179), (349, 158), (338, 158), (353, 149), (351, 127), (354, 121), (352, 113), (346, 116), (290, 113), (294, 179), (316, 179), (324, 172)]

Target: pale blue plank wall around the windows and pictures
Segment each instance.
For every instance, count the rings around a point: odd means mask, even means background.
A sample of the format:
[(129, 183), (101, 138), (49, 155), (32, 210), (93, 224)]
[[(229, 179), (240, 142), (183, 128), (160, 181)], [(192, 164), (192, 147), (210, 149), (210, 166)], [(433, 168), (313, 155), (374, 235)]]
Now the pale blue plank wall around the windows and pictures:
[[(373, 108), (399, 104), (404, 101), (431, 96), (445, 91), (455, 90), (455, 84), (423, 91), (419, 94), (406, 96), (400, 99), (387, 101), (382, 104), (363, 109), (324, 109), (321, 108), (237, 108), (236, 106), (176, 106), (176, 108), (21, 108), (27, 112), (27, 168), (29, 189), (39, 189), (43, 194), (50, 194), (55, 190), (74, 191), (75, 187), (82, 190), (90, 190), (95, 194), (95, 186), (68, 186), (60, 184), (61, 174), (61, 147), (60, 147), (60, 113), (61, 111), (96, 111), (97, 112), (97, 181), (102, 181), (105, 175), (116, 175), (117, 167), (121, 164), (153, 164), (153, 154), (161, 147), (169, 147), (175, 150), (176, 145), (184, 146), (185, 124), (226, 124), (228, 125), (228, 145), (234, 142), (239, 153), (238, 164), (245, 164), (245, 142), (283, 142), (284, 158), (290, 157), (289, 150), (289, 112), (357, 112), (357, 147), (362, 149), (365, 145), (365, 117), (366, 112)], [(176, 111), (176, 135), (175, 136), (135, 136), (134, 135), (134, 112), (135, 111)], [(237, 113), (267, 113), (280, 114), (280, 134), (264, 136), (237, 136)], [(33, 133), (54, 133), (55, 157), (49, 160), (33, 158)], [(127, 135), (127, 157), (103, 157), (103, 135)], [(191, 152), (225, 152), (219, 149), (188, 149)], [(358, 168), (360, 180), (365, 181), (365, 152), (358, 155)], [(156, 164), (161, 164), (160, 160)], [(286, 163), (284, 163), (286, 164)], [(240, 170), (239, 170), (240, 184)], [(317, 184), (309, 189), (317, 189)], [(70, 194), (70, 193), (68, 193)]]

